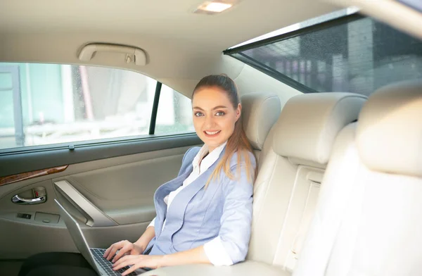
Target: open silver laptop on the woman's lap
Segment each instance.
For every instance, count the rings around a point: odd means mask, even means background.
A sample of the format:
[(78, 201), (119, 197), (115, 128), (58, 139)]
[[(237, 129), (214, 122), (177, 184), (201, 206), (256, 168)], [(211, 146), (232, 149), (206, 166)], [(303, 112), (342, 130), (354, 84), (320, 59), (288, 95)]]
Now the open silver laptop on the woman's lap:
[[(66, 227), (68, 227), (68, 230), (70, 232), (70, 236), (73, 239), (73, 242), (75, 242), (75, 245), (77, 249), (82, 253), (82, 256), (88, 261), (88, 263), (96, 270), (98, 275), (101, 276), (120, 276), (122, 275), (122, 272), (127, 270), (129, 266), (125, 268), (121, 268), (120, 270), (114, 271), (112, 268), (113, 263), (111, 261), (108, 261), (106, 258), (103, 258), (104, 252), (106, 252), (106, 249), (96, 249), (96, 248), (90, 248), (87, 244), (87, 239), (85, 239), (84, 234), (82, 233), (81, 228), (79, 227), (79, 224), (77, 221), (72, 218), (72, 215), (66, 211), (63, 206), (61, 206), (60, 203), (56, 199), (56, 201), (60, 215), (65, 221)], [(139, 275), (143, 272), (146, 272), (148, 270), (151, 270), (151, 268), (139, 268), (135, 270), (134, 272), (130, 273), (129, 275)]]

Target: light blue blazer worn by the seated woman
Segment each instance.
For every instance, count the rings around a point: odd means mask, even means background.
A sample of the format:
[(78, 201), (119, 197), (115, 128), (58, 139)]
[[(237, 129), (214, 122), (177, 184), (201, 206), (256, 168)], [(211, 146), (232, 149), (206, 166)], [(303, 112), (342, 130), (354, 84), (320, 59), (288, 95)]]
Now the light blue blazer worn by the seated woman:
[[(154, 194), (155, 237), (146, 248), (150, 255), (163, 255), (186, 251), (209, 242), (219, 236), (233, 263), (245, 260), (248, 253), (250, 227), (252, 222), (252, 182), (248, 181), (245, 162), (240, 165), (238, 175), (237, 153), (230, 161), (235, 179), (231, 180), (224, 171), (219, 180), (212, 180), (205, 188), (207, 180), (224, 155), (196, 180), (182, 189), (174, 198), (167, 212), (165, 196), (176, 190), (193, 170), (192, 161), (200, 150), (194, 147), (186, 151), (179, 175), (158, 187)], [(255, 156), (250, 153), (253, 168)], [(166, 224), (162, 230), (162, 224)]]

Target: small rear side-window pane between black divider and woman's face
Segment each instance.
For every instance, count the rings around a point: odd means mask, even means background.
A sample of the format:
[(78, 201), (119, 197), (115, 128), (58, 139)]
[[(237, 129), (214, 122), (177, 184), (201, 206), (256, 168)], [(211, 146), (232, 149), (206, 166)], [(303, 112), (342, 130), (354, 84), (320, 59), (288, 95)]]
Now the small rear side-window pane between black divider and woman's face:
[(195, 132), (191, 99), (162, 84), (155, 134), (181, 132)]

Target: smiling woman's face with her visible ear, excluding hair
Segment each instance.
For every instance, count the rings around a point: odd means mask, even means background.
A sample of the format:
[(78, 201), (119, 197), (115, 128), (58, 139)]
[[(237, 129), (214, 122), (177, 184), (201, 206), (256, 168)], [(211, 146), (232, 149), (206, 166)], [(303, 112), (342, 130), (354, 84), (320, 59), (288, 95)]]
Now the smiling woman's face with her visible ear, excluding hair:
[(241, 108), (240, 103), (234, 108), (226, 92), (216, 87), (203, 87), (193, 94), (193, 125), (210, 152), (233, 134)]

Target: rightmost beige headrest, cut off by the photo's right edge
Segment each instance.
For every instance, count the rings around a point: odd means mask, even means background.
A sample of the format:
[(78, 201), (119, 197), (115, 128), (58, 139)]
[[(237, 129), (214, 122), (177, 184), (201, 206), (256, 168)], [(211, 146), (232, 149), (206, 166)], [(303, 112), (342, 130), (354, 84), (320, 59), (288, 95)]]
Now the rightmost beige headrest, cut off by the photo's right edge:
[(422, 80), (373, 93), (359, 115), (356, 139), (369, 169), (422, 177)]

